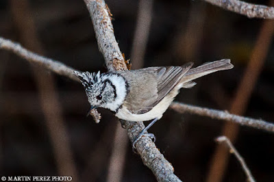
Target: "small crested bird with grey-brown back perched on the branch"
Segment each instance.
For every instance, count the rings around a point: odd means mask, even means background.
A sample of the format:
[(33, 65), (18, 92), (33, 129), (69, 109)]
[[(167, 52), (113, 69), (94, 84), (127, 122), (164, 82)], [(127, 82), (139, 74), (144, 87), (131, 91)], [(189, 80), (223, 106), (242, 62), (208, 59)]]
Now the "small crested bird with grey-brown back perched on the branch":
[[(135, 147), (142, 135), (146, 135), (145, 132), (162, 118), (181, 88), (192, 88), (196, 84), (194, 79), (234, 67), (229, 59), (206, 62), (196, 68), (192, 66), (193, 63), (188, 62), (183, 66), (155, 66), (102, 74), (100, 71), (74, 71), (73, 74), (84, 86), (90, 110), (103, 107), (110, 109), (121, 120), (152, 120), (135, 138)], [(147, 135), (155, 140), (152, 133)]]

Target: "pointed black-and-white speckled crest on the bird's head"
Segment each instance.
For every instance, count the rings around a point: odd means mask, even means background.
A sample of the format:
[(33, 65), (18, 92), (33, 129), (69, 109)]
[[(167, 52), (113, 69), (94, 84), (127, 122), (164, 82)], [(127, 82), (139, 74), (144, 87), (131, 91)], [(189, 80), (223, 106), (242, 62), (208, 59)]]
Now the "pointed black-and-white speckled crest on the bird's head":
[(100, 71), (98, 73), (89, 73), (87, 71), (79, 73), (74, 71), (73, 74), (81, 80), (86, 92), (88, 92), (88, 90), (90, 90), (95, 83), (101, 81)]

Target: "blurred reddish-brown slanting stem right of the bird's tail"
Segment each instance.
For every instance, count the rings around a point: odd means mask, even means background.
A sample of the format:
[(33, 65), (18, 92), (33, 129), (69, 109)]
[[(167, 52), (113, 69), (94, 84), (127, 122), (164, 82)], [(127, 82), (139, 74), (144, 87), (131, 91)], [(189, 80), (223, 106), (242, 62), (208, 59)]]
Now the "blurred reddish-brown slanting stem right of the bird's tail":
[[(271, 1), (274, 5), (274, 0)], [(266, 55), (269, 52), (271, 42), (273, 40), (274, 21), (265, 20), (260, 28), (256, 44), (251, 53), (251, 57), (242, 79), (240, 79), (239, 86), (236, 90), (234, 99), (229, 112), (232, 114), (243, 115), (247, 109), (251, 94), (256, 87), (258, 77), (262, 72)], [(222, 129), (222, 135), (227, 136), (229, 140), (234, 143), (239, 133), (239, 126), (232, 122), (226, 122)], [(208, 172), (208, 182), (222, 181), (227, 168), (229, 160), (229, 153), (223, 146), (217, 146), (210, 164), (210, 171)]]

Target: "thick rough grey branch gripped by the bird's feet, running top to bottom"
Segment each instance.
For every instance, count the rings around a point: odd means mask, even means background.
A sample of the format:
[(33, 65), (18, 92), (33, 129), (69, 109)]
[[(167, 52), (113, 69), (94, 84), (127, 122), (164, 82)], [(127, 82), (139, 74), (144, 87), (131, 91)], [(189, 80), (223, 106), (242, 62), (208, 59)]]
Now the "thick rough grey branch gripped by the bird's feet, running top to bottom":
[[(103, 53), (108, 70), (127, 70), (125, 60), (115, 40), (111, 14), (103, 0), (84, 0), (97, 37), (99, 50)], [(145, 128), (142, 122), (125, 122), (131, 141)], [(164, 158), (151, 138), (144, 136), (136, 143), (143, 163), (148, 166), (158, 181), (181, 181), (175, 176), (173, 166)]]

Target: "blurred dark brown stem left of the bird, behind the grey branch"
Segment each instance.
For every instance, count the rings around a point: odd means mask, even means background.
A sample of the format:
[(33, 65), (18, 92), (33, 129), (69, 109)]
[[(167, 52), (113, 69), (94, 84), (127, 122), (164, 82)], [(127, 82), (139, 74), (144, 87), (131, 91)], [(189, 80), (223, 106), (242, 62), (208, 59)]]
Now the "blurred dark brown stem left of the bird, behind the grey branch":
[[(29, 49), (43, 53), (44, 50), (36, 32), (32, 11), (29, 8), (29, 1), (12, 0), (10, 1), (10, 8), (23, 44)], [(30, 64), (30, 66), (38, 86), (40, 105), (45, 116), (49, 137), (51, 138), (58, 174), (71, 175), (73, 181), (78, 181), (69, 135), (62, 116), (62, 107), (58, 94), (56, 94), (54, 77), (48, 74), (41, 66), (34, 66), (34, 64)]]

